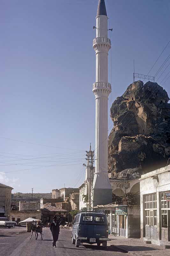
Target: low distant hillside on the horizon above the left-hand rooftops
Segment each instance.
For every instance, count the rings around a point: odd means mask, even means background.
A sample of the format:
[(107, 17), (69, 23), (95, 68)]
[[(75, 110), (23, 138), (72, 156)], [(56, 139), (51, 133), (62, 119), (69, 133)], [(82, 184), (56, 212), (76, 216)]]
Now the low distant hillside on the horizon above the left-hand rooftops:
[[(52, 193), (33, 193), (33, 201), (39, 201), (41, 198), (52, 198)], [(11, 201), (32, 200), (32, 193), (14, 193), (11, 194)]]

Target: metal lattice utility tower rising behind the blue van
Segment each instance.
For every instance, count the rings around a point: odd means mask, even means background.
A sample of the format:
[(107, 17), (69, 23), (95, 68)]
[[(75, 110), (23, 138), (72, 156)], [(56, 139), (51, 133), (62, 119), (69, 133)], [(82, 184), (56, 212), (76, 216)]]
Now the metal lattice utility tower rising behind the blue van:
[(92, 151), (91, 143), (90, 150), (86, 152), (87, 166), (90, 167), (90, 196), (89, 196), (89, 211), (93, 211), (93, 163), (94, 163), (94, 151)]

